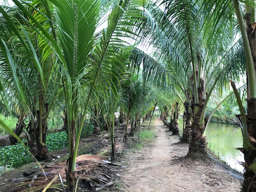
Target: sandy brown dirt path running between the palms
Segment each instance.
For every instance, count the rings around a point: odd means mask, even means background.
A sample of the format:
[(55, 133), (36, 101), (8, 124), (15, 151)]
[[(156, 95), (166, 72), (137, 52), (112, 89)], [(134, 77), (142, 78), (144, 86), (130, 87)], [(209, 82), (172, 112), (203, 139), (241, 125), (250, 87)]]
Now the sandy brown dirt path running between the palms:
[(123, 191), (128, 192), (240, 192), (241, 183), (212, 161), (189, 161), (182, 157), (188, 145), (178, 143), (160, 118), (155, 118), (155, 140), (138, 151), (128, 151), (121, 172)]

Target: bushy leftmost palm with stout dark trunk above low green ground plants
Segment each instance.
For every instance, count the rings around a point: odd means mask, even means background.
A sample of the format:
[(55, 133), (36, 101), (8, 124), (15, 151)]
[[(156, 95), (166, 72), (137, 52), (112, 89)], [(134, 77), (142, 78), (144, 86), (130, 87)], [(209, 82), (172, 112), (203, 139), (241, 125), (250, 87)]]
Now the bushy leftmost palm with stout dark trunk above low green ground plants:
[[(43, 3), (41, 13), (46, 14)], [(2, 16), (2, 62), (1, 81), (4, 92), (2, 98), (8, 95), (11, 106), (20, 111), (16, 133), (20, 134), (22, 128), (29, 133), (29, 149), (38, 160), (48, 158), (45, 145), (47, 134), (47, 118), (54, 106), (58, 82), (58, 70), (54, 65), (53, 51), (44, 36), (37, 34), (38, 28), (26, 20), (25, 13), (18, 7), (0, 8)], [(28, 9), (28, 13), (33, 13)], [(47, 19), (34, 15), (45, 29), (51, 25)], [(7, 33), (6, 33), (7, 32)], [(6, 106), (9, 106), (5, 102)], [(29, 124), (25, 125), (26, 117)], [(13, 141), (15, 142), (15, 141)]]

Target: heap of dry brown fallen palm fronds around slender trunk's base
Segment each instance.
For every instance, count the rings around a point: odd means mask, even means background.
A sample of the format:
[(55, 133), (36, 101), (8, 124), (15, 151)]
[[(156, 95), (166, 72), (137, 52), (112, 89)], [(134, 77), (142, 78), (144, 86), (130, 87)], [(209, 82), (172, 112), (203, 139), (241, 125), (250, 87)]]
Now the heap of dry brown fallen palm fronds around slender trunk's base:
[[(97, 155), (81, 155), (76, 158), (76, 178), (78, 189), (99, 188), (111, 181), (115, 175), (115, 169), (104, 157)], [(102, 161), (103, 160), (103, 161)], [(42, 170), (36, 170), (29, 176), (20, 178), (9, 192), (41, 192), (46, 187), (51, 191), (63, 191), (60, 178), (66, 183), (66, 161), (43, 165)], [(60, 174), (61, 177), (58, 176)], [(48, 190), (47, 190), (48, 191)]]

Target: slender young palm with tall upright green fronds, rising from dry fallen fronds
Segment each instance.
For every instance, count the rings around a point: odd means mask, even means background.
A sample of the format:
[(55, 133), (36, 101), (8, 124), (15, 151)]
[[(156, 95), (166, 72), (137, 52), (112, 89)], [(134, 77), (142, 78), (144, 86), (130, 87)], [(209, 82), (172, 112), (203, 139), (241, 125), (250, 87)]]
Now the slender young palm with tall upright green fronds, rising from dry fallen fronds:
[[(26, 18), (29, 18), (27, 22), (31, 21), (31, 25), (36, 26), (38, 35), (49, 42), (47, 45), (54, 50), (57, 58), (56, 63), (60, 66), (69, 138), (67, 188), (72, 190), (74, 188), (75, 159), (79, 138), (90, 98), (97, 85), (96, 82), (102, 74), (105, 74), (103, 75), (106, 77), (105, 82), (111, 82), (109, 69), (117, 69), (119, 66), (116, 65), (122, 64), (120, 61), (109, 65), (109, 61), (113, 56), (116, 60), (122, 60), (122, 51), (118, 51), (118, 49), (124, 49), (123, 47), (128, 45), (124, 38), (136, 39), (133, 30), (136, 30), (135, 28), (138, 28), (139, 25), (133, 27), (129, 23), (136, 21), (139, 24), (138, 18), (143, 16), (140, 7), (143, 7), (144, 2), (133, 0), (113, 0), (111, 2), (97, 0), (43, 1), (43, 6), (47, 8), (45, 8), (47, 14), (40, 11), (40, 6), (29, 5), (34, 10), (31, 14), (27, 11), (27, 7), (19, 1), (14, 0), (14, 2), (24, 12)], [(109, 12), (109, 10), (111, 11)], [(6, 11), (2, 9), (1, 12), (6, 18), (9, 18)], [(40, 13), (41, 20), (48, 20), (52, 35), (49, 34), (49, 28), (44, 28), (36, 20), (34, 13)], [(97, 26), (100, 27), (105, 21), (108, 27), (100, 32), (95, 32)], [(12, 27), (14, 31), (17, 30), (17, 26), (13, 25)], [(27, 45), (24, 43), (23, 46)], [(2, 43), (2, 47), (4, 47), (4, 43)], [(30, 52), (34, 53), (33, 51)], [(8, 58), (8, 53), (5, 55)], [(37, 60), (34, 63), (38, 64)], [(43, 75), (41, 76), (43, 77)], [(42, 77), (42, 87), (45, 87), (45, 81)], [(88, 87), (88, 96), (78, 125), (77, 116), (81, 108), (77, 96), (81, 94), (81, 89), (79, 89), (81, 86)], [(20, 95), (22, 96), (22, 92)]]

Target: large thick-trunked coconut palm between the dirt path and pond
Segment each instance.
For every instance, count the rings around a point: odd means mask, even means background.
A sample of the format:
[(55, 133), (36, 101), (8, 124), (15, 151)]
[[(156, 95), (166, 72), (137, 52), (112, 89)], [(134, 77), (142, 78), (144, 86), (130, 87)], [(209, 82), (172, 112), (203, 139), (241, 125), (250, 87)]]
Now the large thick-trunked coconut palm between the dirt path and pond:
[[(229, 5), (218, 7), (218, 10), (215, 9), (216, 5), (200, 1), (162, 1), (164, 11), (154, 9), (152, 5), (147, 7), (150, 15), (155, 16), (155, 26), (149, 23), (155, 36), (151, 35), (147, 40), (152, 39), (149, 42), (156, 47), (154, 57), (158, 65), (144, 68), (155, 83), (169, 83), (173, 78), (173, 82), (184, 92), (193, 117), (188, 156), (206, 154), (204, 112), (218, 81), (222, 78), (222, 83), (227, 82), (229, 78), (225, 71), (232, 69), (230, 62), (224, 63), (223, 54), (226, 54), (227, 60), (230, 59), (229, 52), (233, 51), (230, 49), (230, 34), (234, 33), (234, 29), (224, 24), (230, 26), (234, 17)], [(226, 17), (214, 20), (220, 12), (226, 13)]]

